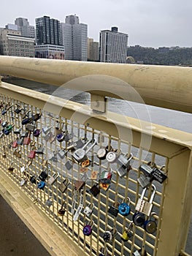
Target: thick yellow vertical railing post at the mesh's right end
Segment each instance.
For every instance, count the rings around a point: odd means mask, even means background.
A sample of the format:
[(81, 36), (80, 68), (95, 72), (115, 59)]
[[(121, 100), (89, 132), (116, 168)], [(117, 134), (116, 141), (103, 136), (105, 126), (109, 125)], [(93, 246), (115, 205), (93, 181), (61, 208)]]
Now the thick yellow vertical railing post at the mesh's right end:
[(169, 180), (164, 191), (164, 207), (156, 256), (180, 255), (185, 249), (191, 220), (191, 168), (191, 150), (188, 148), (169, 159)]

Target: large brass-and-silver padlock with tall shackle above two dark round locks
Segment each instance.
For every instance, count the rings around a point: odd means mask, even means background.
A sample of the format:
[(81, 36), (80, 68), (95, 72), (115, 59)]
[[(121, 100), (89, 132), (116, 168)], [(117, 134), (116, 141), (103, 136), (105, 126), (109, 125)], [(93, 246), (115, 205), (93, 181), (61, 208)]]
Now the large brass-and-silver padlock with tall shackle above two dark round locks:
[(143, 214), (147, 215), (148, 217), (150, 216), (151, 209), (153, 207), (153, 199), (155, 197), (155, 191), (156, 188), (152, 184), (152, 193), (150, 195), (150, 200), (149, 202), (147, 200), (144, 200), (145, 192), (147, 192), (147, 188), (142, 190), (142, 195), (137, 201), (136, 205), (136, 211), (142, 212)]

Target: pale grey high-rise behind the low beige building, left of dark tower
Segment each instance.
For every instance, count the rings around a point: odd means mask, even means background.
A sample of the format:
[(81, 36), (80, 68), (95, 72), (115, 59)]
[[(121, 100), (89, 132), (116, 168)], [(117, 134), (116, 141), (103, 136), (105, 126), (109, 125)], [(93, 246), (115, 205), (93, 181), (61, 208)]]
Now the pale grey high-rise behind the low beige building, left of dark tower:
[(18, 30), (21, 31), (23, 37), (35, 38), (34, 26), (29, 25), (27, 18), (16, 18), (15, 25), (18, 26)]

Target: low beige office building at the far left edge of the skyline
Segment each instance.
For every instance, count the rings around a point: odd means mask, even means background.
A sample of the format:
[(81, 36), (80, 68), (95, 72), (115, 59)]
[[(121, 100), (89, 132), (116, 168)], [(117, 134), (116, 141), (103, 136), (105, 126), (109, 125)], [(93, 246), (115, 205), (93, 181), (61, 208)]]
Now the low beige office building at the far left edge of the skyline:
[(0, 53), (6, 56), (34, 57), (34, 38), (23, 37), (21, 31), (0, 30)]

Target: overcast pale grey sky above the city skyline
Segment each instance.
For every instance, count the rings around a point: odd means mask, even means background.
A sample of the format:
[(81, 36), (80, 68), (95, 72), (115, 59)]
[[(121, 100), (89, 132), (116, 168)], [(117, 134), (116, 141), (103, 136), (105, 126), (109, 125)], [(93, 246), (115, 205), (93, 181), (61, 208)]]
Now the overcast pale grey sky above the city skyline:
[(192, 47), (192, 0), (8, 0), (1, 7), (0, 27), (18, 17), (34, 26), (43, 15), (64, 22), (76, 14), (95, 41), (99, 31), (118, 26), (128, 34), (128, 45)]

